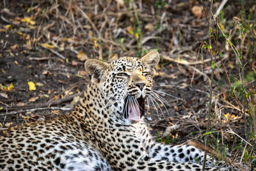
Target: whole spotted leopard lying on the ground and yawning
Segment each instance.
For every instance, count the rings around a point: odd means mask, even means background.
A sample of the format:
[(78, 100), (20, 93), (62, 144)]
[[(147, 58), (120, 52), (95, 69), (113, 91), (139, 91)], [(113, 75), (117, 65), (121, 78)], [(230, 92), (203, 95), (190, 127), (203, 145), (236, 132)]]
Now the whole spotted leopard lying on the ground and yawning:
[[(156, 142), (143, 121), (160, 56), (84, 63), (90, 82), (72, 112), (6, 131), (1, 170), (202, 170), (204, 151)], [(214, 170), (207, 160), (205, 170)]]

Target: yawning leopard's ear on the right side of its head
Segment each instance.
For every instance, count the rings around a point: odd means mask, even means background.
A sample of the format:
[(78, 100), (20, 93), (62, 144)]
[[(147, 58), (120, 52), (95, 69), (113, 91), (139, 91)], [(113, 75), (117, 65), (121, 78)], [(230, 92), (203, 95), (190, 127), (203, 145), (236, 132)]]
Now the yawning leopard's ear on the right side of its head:
[(149, 52), (141, 58), (141, 61), (149, 66), (151, 69), (155, 68), (159, 63), (160, 57), (157, 51)]

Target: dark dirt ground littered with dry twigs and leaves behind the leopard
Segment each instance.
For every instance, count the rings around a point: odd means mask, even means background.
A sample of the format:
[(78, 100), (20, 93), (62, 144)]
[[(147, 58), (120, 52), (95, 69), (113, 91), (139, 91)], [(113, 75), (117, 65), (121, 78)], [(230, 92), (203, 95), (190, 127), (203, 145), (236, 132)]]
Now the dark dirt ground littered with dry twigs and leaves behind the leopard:
[[(214, 1), (214, 11), (220, 3)], [(210, 3), (204, 5), (209, 11)], [(16, 0), (0, 1), (0, 6), (1, 131), (70, 111), (89, 81), (86, 59), (109, 61), (155, 49), (161, 62), (154, 90), (162, 92), (156, 93), (166, 103), (150, 103), (145, 121), (154, 134), (171, 137), (160, 141), (204, 142), (212, 67), (202, 48), (209, 40), (209, 27), (200, 1)], [(239, 1), (226, 4), (225, 19), (232, 21), (242, 8)], [(232, 51), (225, 43), (220, 43), (220, 51), (228, 73), (237, 76)], [(255, 61), (249, 62), (245, 73), (254, 67)], [(221, 63), (218, 57), (215, 63)], [(228, 154), (234, 154), (231, 150), (242, 141), (225, 130), (245, 138), (245, 120), (230, 96), (223, 69), (216, 68), (213, 81), (211, 131), (218, 133), (211, 135), (212, 141), (221, 137), (218, 149), (228, 147)], [(35, 91), (29, 91), (28, 82), (35, 84)], [(250, 87), (255, 85), (254, 79)]]

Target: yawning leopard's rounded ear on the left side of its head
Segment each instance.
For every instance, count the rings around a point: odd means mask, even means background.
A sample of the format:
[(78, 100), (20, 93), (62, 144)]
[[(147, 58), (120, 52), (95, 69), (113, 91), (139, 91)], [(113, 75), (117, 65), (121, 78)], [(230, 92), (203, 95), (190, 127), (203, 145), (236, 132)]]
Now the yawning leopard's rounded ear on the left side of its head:
[(97, 81), (100, 82), (100, 78), (102, 77), (104, 70), (106, 70), (107, 68), (108, 63), (104, 63), (96, 59), (88, 59), (84, 63), (84, 69), (90, 76), (92, 76), (92, 81), (93, 78), (96, 78)]

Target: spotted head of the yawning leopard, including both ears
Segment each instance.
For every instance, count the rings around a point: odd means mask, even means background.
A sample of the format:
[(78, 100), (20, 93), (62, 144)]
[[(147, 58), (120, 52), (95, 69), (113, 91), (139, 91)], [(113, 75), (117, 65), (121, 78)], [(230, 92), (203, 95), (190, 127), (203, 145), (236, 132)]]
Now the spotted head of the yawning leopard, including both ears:
[(159, 63), (158, 52), (140, 58), (120, 57), (111, 63), (89, 59), (84, 64), (91, 75), (91, 86), (97, 87), (119, 119), (141, 121), (145, 98), (152, 89), (152, 78)]

